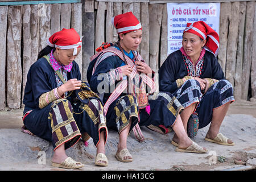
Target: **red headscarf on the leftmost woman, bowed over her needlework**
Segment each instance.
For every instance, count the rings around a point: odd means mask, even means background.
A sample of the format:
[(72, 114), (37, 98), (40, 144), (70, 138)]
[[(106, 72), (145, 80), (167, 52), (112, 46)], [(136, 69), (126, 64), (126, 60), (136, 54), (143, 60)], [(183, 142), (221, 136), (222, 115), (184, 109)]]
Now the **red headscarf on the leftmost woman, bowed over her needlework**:
[(77, 48), (82, 46), (82, 40), (74, 28), (56, 32), (48, 40), (47, 45), (60, 49), (74, 49), (73, 55), (77, 54)]

